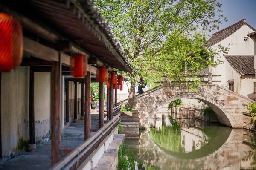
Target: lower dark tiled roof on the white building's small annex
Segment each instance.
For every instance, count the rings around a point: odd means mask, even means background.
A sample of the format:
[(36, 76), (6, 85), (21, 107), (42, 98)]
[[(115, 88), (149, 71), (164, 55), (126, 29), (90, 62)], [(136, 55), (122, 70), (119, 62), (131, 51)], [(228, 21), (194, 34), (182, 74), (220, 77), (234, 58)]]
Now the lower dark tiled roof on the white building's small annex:
[(240, 74), (254, 75), (254, 55), (224, 55), (230, 65)]

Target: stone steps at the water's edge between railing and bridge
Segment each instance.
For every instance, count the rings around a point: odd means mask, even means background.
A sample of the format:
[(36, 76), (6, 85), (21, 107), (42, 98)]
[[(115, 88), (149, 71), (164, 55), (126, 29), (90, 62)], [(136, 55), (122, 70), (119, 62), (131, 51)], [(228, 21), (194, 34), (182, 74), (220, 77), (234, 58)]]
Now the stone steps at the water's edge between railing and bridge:
[(139, 120), (138, 110), (121, 112), (122, 133), (125, 138), (139, 138)]

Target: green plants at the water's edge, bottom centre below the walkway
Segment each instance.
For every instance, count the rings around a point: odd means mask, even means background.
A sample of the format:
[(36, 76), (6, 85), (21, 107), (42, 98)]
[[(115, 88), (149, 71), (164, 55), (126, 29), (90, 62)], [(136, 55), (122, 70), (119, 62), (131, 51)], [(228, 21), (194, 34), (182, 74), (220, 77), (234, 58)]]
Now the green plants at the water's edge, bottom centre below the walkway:
[(133, 150), (128, 149), (127, 144), (123, 143), (120, 145), (118, 150), (118, 170), (135, 170), (136, 156), (133, 155)]

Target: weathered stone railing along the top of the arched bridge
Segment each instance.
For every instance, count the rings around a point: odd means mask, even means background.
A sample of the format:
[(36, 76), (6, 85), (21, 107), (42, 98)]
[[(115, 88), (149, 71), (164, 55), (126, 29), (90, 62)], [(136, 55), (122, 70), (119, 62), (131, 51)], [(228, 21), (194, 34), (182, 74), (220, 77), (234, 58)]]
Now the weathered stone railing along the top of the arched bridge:
[[(221, 77), (221, 75), (212, 75), (211, 72), (209, 72), (208, 74), (205, 75), (186, 75), (183, 77), (174, 77), (172, 78), (172, 80), (166, 80), (166, 77), (163, 77), (163, 81), (158, 81), (155, 83), (163, 83), (163, 84), (183, 84), (183, 83), (192, 83), (195, 82), (194, 80), (192, 80), (192, 78), (197, 77), (201, 80), (201, 83), (204, 84), (212, 84), (212, 82), (221, 82), (220, 80), (212, 80), (212, 77)], [(189, 81), (185, 80), (185, 79), (189, 79), (191, 78)]]

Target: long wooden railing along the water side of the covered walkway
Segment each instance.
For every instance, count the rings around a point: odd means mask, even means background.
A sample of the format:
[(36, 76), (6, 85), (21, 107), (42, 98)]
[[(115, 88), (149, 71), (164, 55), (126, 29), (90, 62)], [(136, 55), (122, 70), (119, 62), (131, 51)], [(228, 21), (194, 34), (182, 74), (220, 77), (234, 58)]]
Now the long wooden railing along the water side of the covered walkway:
[[(121, 109), (121, 105), (114, 110)], [(115, 127), (118, 126), (121, 114), (116, 115), (111, 121), (100, 128), (97, 133), (81, 144), (79, 147), (70, 152), (61, 159), (50, 170), (81, 170), (90, 161), (90, 159), (99, 150), (99, 146), (104, 144), (108, 139), (108, 135), (113, 133)]]

